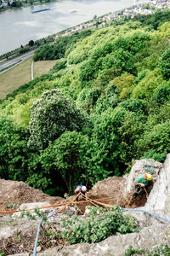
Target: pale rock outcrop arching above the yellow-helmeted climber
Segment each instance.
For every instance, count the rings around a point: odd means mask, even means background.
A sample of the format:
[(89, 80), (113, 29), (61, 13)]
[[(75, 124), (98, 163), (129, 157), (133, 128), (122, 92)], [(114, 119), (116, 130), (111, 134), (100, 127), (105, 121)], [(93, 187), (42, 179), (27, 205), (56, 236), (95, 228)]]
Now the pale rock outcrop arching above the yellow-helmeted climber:
[(126, 191), (130, 192), (133, 189), (133, 181), (140, 174), (144, 174), (144, 172), (150, 172), (154, 178), (159, 175), (162, 164), (156, 160), (152, 159), (144, 159), (144, 160), (136, 160), (130, 174), (127, 177), (127, 186)]

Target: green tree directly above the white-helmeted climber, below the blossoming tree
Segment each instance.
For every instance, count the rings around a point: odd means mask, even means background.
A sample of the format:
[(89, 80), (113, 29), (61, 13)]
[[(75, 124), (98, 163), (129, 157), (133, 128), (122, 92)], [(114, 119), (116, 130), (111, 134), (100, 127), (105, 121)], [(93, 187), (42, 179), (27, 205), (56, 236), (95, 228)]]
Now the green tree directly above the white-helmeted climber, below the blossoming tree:
[(91, 169), (88, 137), (77, 131), (65, 131), (54, 143), (50, 143), (41, 153), (42, 168), (51, 177), (58, 172), (67, 192), (71, 195), (77, 183), (88, 183), (88, 170)]

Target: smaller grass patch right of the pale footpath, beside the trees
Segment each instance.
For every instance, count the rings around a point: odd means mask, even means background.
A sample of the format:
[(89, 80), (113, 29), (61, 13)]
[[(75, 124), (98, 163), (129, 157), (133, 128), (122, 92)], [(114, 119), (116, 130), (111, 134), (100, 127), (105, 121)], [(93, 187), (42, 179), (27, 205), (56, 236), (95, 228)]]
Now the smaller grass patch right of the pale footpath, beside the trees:
[(48, 73), (49, 69), (54, 67), (55, 61), (36, 61), (34, 62), (34, 78), (41, 76), (43, 73)]

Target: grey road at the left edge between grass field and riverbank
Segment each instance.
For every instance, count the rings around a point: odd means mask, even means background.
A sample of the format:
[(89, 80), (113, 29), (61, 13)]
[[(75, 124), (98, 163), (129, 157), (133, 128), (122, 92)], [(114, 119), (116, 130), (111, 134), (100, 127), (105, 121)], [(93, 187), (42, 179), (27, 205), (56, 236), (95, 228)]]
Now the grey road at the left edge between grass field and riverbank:
[[(19, 62), (26, 61), (28, 58), (30, 58), (34, 54), (34, 51), (35, 51), (35, 49), (27, 52), (26, 54), (20, 55), (10, 61), (6, 61), (2, 65), (0, 65), (0, 73), (4, 73), (4, 72), (8, 71), (10, 68), (14, 67)], [(5, 70), (3, 70), (3, 69), (5, 69)]]

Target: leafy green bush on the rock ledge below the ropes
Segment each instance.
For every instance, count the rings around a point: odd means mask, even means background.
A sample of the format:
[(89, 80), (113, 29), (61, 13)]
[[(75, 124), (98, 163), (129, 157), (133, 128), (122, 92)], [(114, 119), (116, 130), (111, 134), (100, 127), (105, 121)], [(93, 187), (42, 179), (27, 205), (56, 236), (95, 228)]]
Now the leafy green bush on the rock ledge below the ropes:
[(108, 236), (138, 232), (134, 218), (130, 215), (122, 216), (122, 209), (118, 206), (111, 208), (109, 212), (101, 207), (88, 207), (89, 216), (78, 218), (77, 216), (63, 218), (61, 221), (65, 230), (61, 236), (69, 244), (99, 242)]

